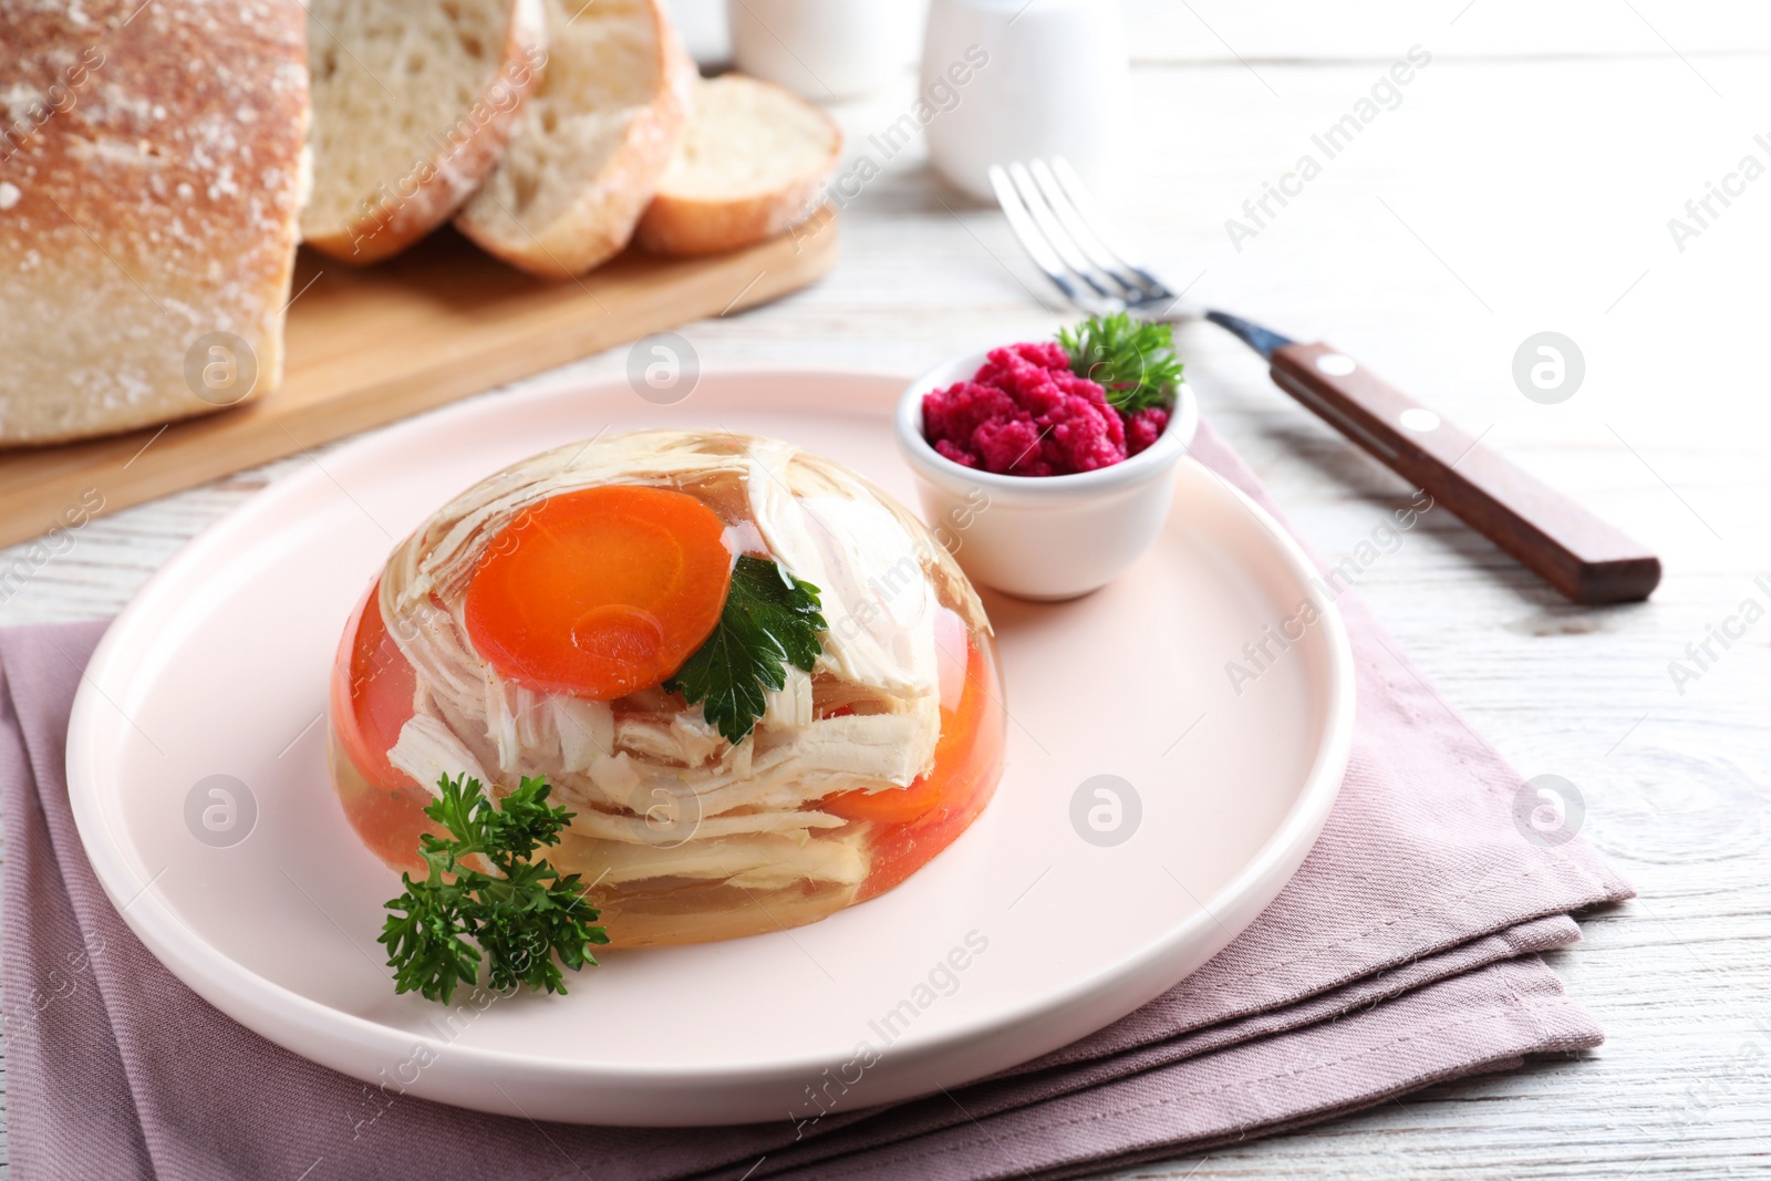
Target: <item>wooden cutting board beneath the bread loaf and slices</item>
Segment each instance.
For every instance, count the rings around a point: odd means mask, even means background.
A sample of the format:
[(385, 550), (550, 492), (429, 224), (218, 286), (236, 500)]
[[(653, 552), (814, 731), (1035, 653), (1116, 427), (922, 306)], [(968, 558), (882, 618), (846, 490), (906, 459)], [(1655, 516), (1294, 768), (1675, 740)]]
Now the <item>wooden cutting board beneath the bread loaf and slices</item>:
[(280, 390), (168, 427), (0, 452), (0, 545), (799, 290), (836, 262), (836, 220), (820, 216), (799, 241), (694, 260), (632, 250), (563, 283), (452, 230), (361, 271), (305, 250)]

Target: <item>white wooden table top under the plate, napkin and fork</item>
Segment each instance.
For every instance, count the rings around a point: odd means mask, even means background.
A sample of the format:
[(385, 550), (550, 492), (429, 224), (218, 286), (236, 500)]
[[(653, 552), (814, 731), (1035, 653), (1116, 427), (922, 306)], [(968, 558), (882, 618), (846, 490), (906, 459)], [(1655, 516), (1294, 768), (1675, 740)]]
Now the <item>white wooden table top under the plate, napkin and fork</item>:
[[(1527, 776), (1578, 784), (1585, 834), (1642, 898), (1551, 956), (1610, 1041), (1578, 1061), (1433, 1087), (1295, 1135), (1137, 1176), (1668, 1177), (1771, 1174), (1771, 175), (1679, 243), (1670, 218), (1752, 154), (1771, 166), (1771, 11), (1672, 0), (1130, 0), (1141, 151), (1110, 193), (1190, 296), (1328, 338), (1654, 545), (1652, 602), (1558, 600), (1429, 513), (1360, 593)], [(1303, 193), (1240, 243), (1227, 218), (1311, 152), (1410, 46), (1433, 55)], [(839, 112), (852, 151), (912, 83)], [(1755, 142), (1767, 133), (1766, 142)], [(877, 152), (875, 152), (877, 156)], [(1319, 156), (1319, 152), (1318, 152)], [(708, 368), (907, 374), (1048, 331), (1001, 220), (912, 147), (847, 209), (813, 290), (684, 328)], [(1587, 375), (1541, 405), (1511, 377), (1537, 331)], [(1404, 483), (1280, 395), (1213, 328), (1179, 335), (1213, 425), (1330, 561)], [(625, 351), (576, 370), (620, 374)], [(285, 460), (96, 521), (0, 623), (99, 618)], [(0, 552), (0, 567), (16, 554)], [(1695, 678), (1675, 683), (1672, 660)]]

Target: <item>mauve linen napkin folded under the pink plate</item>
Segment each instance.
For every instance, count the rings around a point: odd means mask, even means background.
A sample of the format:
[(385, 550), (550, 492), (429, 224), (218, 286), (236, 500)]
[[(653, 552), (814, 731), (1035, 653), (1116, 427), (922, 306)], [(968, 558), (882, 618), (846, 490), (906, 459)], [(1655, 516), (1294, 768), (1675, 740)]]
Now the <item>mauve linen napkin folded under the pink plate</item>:
[[(1210, 430), (1195, 455), (1264, 501)], [(1270, 505), (1268, 505), (1270, 506)], [(236, 1025), (135, 938), (67, 806), (67, 714), (103, 625), (0, 632), (4, 1004), (16, 1177), (1064, 1177), (1319, 1121), (1601, 1041), (1534, 954), (1629, 896), (1530, 841), (1520, 777), (1342, 595), (1358, 719), (1296, 878), (1215, 960), (1098, 1034), (891, 1108), (577, 1128), (374, 1089)]]

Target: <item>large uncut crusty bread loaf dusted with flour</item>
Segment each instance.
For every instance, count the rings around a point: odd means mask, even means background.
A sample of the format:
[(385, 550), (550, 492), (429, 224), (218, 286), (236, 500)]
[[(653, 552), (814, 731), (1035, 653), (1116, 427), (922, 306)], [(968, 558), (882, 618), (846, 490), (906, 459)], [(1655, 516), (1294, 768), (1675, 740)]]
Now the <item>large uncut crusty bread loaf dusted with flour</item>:
[(282, 377), (299, 0), (0, 0), (0, 444)]

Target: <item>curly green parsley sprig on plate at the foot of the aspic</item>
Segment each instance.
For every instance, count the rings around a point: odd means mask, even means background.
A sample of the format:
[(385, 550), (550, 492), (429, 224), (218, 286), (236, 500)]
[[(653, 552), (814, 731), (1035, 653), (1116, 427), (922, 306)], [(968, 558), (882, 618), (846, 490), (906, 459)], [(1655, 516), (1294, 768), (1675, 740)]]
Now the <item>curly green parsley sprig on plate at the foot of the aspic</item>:
[(547, 806), (553, 788), (545, 779), (524, 777), (501, 804), (466, 776), (445, 776), (437, 788), (441, 797), (425, 816), (450, 836), (420, 838), (430, 871), (423, 882), (400, 876), (406, 892), (388, 901), (397, 914), (381, 928), (395, 992), (448, 1004), (455, 984), (480, 979), (483, 956), (494, 992), (528, 984), (563, 993), (560, 967), (576, 972), (593, 965), (590, 946), (609, 942), (592, 926), (599, 912), (584, 901), (577, 875), (561, 875), (545, 859), (530, 861), (542, 845), (560, 841), (572, 813)]

